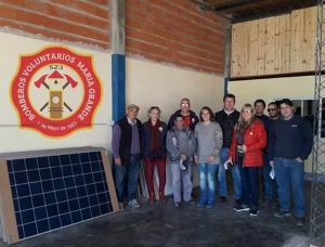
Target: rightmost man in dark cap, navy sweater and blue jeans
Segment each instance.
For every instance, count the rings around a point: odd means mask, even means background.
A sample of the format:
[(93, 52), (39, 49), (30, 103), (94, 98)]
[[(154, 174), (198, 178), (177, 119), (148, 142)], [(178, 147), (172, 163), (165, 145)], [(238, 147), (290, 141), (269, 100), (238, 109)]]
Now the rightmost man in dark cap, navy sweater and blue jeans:
[(309, 122), (294, 115), (292, 102), (281, 101), (281, 117), (271, 125), (268, 154), (270, 165), (274, 166), (277, 183), (280, 210), (275, 217), (291, 216), (290, 185), (294, 192), (297, 225), (304, 224), (303, 161), (311, 153), (313, 145), (312, 129)]

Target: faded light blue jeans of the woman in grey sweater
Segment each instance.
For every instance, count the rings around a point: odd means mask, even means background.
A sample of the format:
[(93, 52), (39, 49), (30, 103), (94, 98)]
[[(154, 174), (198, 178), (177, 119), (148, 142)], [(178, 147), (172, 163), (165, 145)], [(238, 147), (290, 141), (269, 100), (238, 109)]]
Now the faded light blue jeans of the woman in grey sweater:
[(199, 170), (199, 204), (214, 206), (217, 164), (200, 162)]

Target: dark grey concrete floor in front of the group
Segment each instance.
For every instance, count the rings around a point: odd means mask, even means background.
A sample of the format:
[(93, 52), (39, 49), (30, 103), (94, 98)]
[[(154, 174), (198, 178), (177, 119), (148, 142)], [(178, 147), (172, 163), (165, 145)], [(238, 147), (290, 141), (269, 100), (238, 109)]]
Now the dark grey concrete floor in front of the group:
[[(310, 204), (310, 183), (307, 183)], [(63, 246), (222, 246), (222, 247), (304, 247), (309, 246), (309, 223), (299, 227), (295, 219), (277, 219), (271, 209), (258, 217), (233, 210), (233, 202), (216, 208), (182, 205), (173, 208), (172, 198), (164, 205), (105, 216), (15, 244), (15, 247)], [(8, 246), (0, 242), (0, 247)]]

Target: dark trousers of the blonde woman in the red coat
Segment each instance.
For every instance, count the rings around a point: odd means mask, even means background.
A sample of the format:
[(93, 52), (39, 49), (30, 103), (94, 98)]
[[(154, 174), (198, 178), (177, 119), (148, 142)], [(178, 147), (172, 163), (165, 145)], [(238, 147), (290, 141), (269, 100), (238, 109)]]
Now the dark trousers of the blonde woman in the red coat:
[(251, 208), (259, 208), (259, 167), (243, 167), (243, 157), (238, 158), (242, 179), (242, 202)]

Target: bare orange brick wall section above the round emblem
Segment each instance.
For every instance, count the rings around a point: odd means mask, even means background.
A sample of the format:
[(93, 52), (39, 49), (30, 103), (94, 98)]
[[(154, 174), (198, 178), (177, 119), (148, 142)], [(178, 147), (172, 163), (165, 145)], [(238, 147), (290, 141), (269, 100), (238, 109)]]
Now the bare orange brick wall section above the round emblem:
[(1, 0), (0, 27), (109, 49), (109, 0)]

